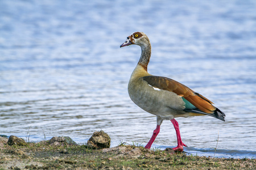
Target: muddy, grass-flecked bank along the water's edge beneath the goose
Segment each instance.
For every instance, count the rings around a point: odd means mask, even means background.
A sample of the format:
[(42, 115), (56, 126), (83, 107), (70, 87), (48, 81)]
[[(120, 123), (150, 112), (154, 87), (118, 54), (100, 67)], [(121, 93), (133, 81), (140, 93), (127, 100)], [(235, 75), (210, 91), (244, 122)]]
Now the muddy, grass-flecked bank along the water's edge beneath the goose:
[[(93, 149), (67, 142), (52, 141), (8, 144), (0, 137), (0, 169), (254, 169), (255, 159), (207, 158), (173, 153), (172, 150), (147, 150), (120, 145)], [(59, 140), (59, 142), (54, 141)], [(23, 141), (22, 141), (23, 142)]]

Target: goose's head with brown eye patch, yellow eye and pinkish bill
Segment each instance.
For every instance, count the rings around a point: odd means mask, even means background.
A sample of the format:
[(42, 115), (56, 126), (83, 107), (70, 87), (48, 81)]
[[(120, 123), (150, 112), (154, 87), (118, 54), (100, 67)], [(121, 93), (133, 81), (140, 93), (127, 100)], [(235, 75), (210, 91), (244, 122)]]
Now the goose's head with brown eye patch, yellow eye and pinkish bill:
[(136, 44), (139, 46), (143, 46), (149, 42), (148, 37), (143, 32), (134, 32), (130, 36), (127, 37), (127, 40), (120, 45), (120, 48), (123, 46), (128, 46), (132, 44)]

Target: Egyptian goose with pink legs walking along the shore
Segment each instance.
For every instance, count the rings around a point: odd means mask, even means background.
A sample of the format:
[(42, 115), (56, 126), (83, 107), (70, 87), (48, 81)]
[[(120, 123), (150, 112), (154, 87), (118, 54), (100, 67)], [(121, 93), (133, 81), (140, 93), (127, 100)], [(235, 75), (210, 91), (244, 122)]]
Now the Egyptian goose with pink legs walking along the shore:
[(183, 151), (186, 146), (180, 137), (179, 124), (176, 117), (212, 116), (225, 121), (225, 114), (214, 107), (212, 101), (191, 90), (187, 86), (163, 76), (147, 73), (147, 65), (151, 56), (151, 45), (147, 35), (134, 32), (120, 46), (141, 46), (141, 58), (135, 67), (128, 84), (131, 100), (144, 111), (156, 116), (156, 129), (145, 148), (150, 148), (160, 131), (163, 120), (171, 120), (177, 135), (177, 147), (174, 151)]

